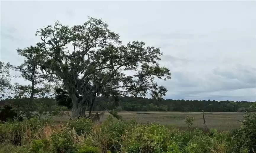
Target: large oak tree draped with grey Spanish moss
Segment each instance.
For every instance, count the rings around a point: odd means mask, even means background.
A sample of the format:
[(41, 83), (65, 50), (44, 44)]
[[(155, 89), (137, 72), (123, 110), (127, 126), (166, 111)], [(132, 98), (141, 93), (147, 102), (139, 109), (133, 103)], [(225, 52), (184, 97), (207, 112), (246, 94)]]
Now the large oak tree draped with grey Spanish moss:
[(169, 69), (157, 63), (163, 55), (160, 49), (139, 41), (122, 45), (119, 35), (101, 19), (88, 17), (84, 24), (72, 27), (56, 21), (39, 29), (36, 36), (42, 41), (37, 43), (41, 58), (36, 61), (46, 75), (63, 81), (72, 99), (73, 117), (84, 116), (99, 95), (151, 94), (158, 99), (167, 92), (154, 80), (170, 79)]

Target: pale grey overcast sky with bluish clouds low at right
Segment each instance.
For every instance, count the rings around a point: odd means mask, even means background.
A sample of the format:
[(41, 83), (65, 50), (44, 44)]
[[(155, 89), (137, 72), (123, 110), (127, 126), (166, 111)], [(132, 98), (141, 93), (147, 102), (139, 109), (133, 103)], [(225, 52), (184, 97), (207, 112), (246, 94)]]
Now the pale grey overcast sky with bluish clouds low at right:
[(255, 13), (255, 1), (1, 1), (1, 61), (21, 64), (16, 49), (40, 42), (37, 29), (91, 16), (125, 44), (161, 47), (165, 99), (256, 101)]

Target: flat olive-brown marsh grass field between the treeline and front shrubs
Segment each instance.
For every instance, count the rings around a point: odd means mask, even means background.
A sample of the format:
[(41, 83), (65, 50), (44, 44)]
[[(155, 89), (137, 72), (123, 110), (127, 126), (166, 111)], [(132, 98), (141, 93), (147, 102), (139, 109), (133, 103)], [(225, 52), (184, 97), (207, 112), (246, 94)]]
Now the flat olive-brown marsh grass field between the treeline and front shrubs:
[[(69, 112), (71, 115), (71, 112)], [(96, 113), (96, 112), (93, 112)], [(156, 122), (164, 124), (167, 127), (176, 127), (179, 129), (186, 129), (187, 125), (185, 119), (188, 115), (194, 117), (193, 128), (203, 128), (202, 112), (118, 112), (125, 121), (136, 119), (137, 122)], [(105, 112), (104, 117), (100, 120), (104, 122), (109, 112)], [(220, 131), (236, 129), (241, 126), (239, 122), (243, 119), (243, 112), (205, 112), (205, 120), (208, 128), (215, 128)], [(55, 117), (55, 122), (68, 122), (70, 116), (63, 116), (62, 118)]]

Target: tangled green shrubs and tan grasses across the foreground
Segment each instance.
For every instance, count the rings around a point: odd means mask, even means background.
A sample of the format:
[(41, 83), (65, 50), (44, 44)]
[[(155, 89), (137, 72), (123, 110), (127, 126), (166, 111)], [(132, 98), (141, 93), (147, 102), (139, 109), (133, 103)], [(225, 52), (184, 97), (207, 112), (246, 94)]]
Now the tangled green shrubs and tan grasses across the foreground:
[(256, 115), (245, 113), (240, 129), (218, 132), (193, 129), (187, 116), (186, 130), (157, 123), (129, 122), (108, 116), (102, 124), (73, 119), (54, 124), (51, 119), (25, 119), (1, 124), (1, 153), (239, 153), (254, 152)]

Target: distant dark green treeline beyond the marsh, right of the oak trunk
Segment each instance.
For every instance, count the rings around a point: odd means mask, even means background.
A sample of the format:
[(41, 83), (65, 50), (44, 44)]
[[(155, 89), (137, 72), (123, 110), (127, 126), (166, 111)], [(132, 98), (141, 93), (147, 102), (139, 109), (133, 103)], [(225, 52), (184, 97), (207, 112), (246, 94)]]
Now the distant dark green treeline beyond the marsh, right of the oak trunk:
[[(250, 102), (211, 101), (211, 100), (162, 100), (145, 98), (120, 98), (120, 106), (125, 111), (181, 111), (181, 112), (245, 112), (250, 111)], [(143, 110), (144, 109), (144, 110)]]

